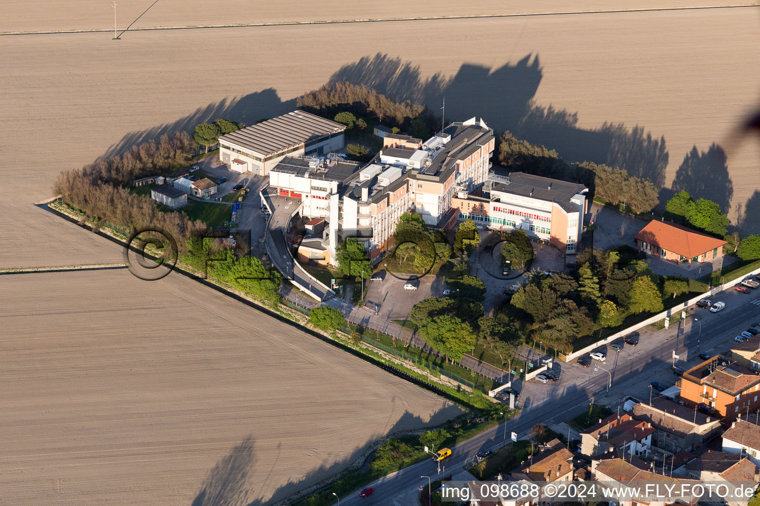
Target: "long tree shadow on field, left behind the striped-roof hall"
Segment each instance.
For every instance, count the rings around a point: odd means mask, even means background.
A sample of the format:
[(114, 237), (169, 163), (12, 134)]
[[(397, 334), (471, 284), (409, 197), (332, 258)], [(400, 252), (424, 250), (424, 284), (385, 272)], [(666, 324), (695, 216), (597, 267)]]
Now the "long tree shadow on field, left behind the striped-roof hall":
[(217, 118), (238, 121), (243, 124), (254, 124), (262, 118), (272, 118), (286, 112), (293, 111), (296, 108), (296, 100), (286, 100), (285, 102), (277, 95), (277, 90), (267, 88), (255, 93), (249, 93), (239, 99), (223, 99), (204, 107), (199, 107), (190, 115), (179, 118), (172, 123), (165, 123), (147, 130), (130, 132), (122, 137), (118, 143), (109, 147), (103, 158), (119, 155), (140, 143), (148, 140), (156, 140), (163, 134), (173, 134), (174, 132), (185, 130), (191, 132), (195, 125), (208, 123)]

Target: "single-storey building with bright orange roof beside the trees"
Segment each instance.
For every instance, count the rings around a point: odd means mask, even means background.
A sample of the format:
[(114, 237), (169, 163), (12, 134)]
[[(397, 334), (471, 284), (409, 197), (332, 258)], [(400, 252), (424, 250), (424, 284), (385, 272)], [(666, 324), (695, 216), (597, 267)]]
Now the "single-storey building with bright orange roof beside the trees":
[(673, 263), (707, 262), (723, 255), (725, 240), (671, 222), (649, 222), (635, 236), (638, 250)]

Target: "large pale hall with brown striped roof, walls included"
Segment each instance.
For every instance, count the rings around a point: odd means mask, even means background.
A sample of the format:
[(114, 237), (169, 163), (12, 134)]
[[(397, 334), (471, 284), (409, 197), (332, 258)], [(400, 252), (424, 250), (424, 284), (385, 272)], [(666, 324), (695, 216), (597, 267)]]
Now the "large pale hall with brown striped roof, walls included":
[(344, 124), (293, 111), (219, 137), (219, 159), (236, 172), (267, 175), (287, 155), (321, 156), (344, 145)]

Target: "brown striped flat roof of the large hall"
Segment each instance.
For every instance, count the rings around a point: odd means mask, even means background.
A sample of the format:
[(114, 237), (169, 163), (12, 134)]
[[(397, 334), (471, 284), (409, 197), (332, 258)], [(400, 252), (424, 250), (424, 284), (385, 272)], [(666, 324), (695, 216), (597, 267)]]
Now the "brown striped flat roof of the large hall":
[(268, 156), (344, 130), (344, 124), (296, 110), (225, 134), (219, 140)]

